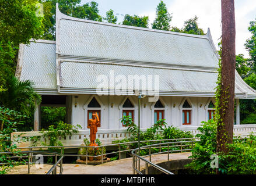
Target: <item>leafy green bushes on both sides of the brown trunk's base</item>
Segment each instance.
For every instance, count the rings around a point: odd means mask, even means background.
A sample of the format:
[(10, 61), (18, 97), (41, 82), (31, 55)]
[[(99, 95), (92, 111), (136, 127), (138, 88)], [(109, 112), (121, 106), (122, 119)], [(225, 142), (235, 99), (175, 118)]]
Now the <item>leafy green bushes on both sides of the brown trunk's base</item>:
[[(204, 125), (197, 134), (201, 141), (197, 142), (192, 149), (193, 158), (187, 167), (197, 174), (214, 174), (215, 169), (211, 168), (211, 155), (216, 154), (216, 123), (213, 120), (203, 121)], [(220, 174), (256, 174), (256, 137), (249, 135), (246, 138), (234, 138), (233, 144), (227, 144), (229, 152), (219, 153)]]

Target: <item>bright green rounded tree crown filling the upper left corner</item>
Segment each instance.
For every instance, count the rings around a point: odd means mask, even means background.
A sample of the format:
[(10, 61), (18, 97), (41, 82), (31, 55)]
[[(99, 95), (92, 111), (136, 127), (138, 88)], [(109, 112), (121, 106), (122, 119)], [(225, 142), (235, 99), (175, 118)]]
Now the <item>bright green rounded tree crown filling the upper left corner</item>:
[(17, 47), (28, 44), (31, 38), (43, 34), (43, 18), (36, 15), (36, 0), (0, 0), (0, 38), (2, 44), (10, 42)]

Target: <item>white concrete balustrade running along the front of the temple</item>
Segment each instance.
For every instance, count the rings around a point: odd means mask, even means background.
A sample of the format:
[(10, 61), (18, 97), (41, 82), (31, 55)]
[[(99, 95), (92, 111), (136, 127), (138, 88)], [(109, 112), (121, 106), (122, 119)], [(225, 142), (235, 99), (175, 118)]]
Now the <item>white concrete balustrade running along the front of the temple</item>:
[[(180, 130), (183, 131), (191, 131), (193, 135), (198, 134), (198, 126), (186, 126), (186, 127), (178, 127)], [(146, 131), (146, 128), (142, 128), (142, 131)], [(243, 125), (234, 125), (234, 135), (248, 135), (251, 132), (256, 133), (256, 124), (243, 124)], [(160, 131), (158, 132), (160, 133)], [(28, 147), (28, 146), (38, 146), (41, 144), (42, 141), (47, 142), (48, 139), (43, 138), (43, 134), (37, 131), (31, 132), (16, 132), (12, 133), (12, 141), (17, 139), (18, 135), (19, 138), (27, 138), (26, 142), (20, 142), (16, 144), (19, 147)], [(64, 146), (71, 146), (71, 145), (81, 145), (85, 138), (89, 139), (90, 131), (89, 130), (79, 130), (79, 133), (72, 134), (66, 136), (66, 138), (59, 138)], [(33, 141), (30, 140), (30, 137), (40, 136), (40, 140), (37, 141), (37, 144), (34, 144)], [(131, 137), (131, 134), (127, 132), (127, 129), (99, 129), (96, 138), (99, 138), (102, 141), (103, 145), (111, 144), (112, 141), (115, 140), (122, 140), (124, 138)]]

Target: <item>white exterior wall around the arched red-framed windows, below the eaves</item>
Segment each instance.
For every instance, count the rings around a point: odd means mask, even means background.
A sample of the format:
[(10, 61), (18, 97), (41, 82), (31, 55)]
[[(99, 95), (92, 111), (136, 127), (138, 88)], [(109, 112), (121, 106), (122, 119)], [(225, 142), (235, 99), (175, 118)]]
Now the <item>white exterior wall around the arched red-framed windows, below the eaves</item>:
[[(138, 124), (138, 97), (136, 96), (95, 96), (101, 105), (101, 127), (100, 129), (124, 129), (120, 122), (122, 117), (122, 104), (128, 97), (134, 104), (134, 120)], [(80, 124), (83, 130), (87, 130), (87, 104), (93, 95), (78, 95), (78, 98), (72, 96), (72, 124)], [(189, 97), (187, 100), (192, 105), (191, 125), (182, 124), (182, 105), (185, 97), (178, 96), (160, 96), (160, 101), (164, 105), (164, 119), (166, 123), (176, 127), (199, 126), (201, 121), (208, 118), (207, 110), (210, 100), (213, 98)], [(75, 107), (75, 102), (77, 106)], [(111, 108), (111, 105), (113, 107)], [(145, 105), (146, 104), (146, 105)], [(141, 128), (149, 128), (154, 123), (154, 102), (148, 102), (148, 98), (141, 99)], [(145, 106), (145, 108), (144, 108)]]

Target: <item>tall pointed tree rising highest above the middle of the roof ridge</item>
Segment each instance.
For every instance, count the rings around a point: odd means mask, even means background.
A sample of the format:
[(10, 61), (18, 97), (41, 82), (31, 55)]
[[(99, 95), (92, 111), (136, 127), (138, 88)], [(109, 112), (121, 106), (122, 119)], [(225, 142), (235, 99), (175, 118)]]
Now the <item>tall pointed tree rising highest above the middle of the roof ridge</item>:
[(170, 30), (170, 22), (173, 17), (167, 10), (166, 4), (160, 1), (156, 8), (156, 19), (152, 23), (152, 28), (157, 30)]

